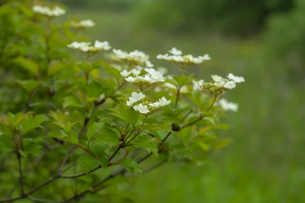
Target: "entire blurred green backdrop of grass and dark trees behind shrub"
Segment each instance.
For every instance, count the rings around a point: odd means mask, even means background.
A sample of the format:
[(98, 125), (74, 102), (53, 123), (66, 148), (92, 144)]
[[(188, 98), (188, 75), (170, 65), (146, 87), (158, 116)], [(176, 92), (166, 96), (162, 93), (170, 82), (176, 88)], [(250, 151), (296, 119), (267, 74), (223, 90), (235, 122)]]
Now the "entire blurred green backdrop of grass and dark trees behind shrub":
[[(58, 2), (58, 1), (57, 1)], [(234, 143), (201, 167), (167, 164), (140, 177), (139, 202), (305, 202), (304, 0), (66, 0), (66, 18), (93, 19), (90, 41), (155, 56), (177, 47), (212, 60), (193, 67), (243, 76), (220, 137)], [(65, 17), (64, 17), (65, 18)], [(149, 163), (147, 163), (149, 164)]]

